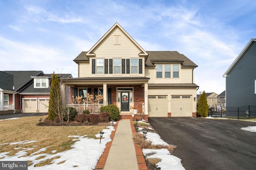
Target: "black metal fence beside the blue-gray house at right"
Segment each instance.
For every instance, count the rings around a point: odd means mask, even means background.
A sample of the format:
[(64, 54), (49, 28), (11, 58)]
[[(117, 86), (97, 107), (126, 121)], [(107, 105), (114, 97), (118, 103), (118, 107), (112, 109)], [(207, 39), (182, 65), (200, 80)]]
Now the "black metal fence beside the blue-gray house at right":
[(256, 106), (209, 107), (208, 116), (230, 119), (254, 119), (256, 118)]

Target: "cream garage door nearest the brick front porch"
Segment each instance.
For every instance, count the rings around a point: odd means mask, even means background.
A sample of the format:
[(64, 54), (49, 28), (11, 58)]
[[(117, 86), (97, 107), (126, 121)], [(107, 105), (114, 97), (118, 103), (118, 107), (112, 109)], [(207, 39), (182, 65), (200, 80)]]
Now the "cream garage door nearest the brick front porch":
[(148, 96), (148, 117), (168, 117), (168, 96)]

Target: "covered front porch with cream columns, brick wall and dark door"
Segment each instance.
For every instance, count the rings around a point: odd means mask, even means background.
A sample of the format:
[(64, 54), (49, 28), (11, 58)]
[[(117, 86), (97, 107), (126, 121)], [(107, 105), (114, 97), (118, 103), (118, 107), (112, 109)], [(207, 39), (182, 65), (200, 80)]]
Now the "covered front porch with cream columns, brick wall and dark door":
[[(99, 103), (92, 100), (89, 104), (99, 106), (116, 105), (120, 110), (121, 118), (130, 118), (130, 109), (136, 109), (138, 114), (148, 115), (148, 80), (149, 78), (70, 78), (62, 81), (64, 85), (70, 86), (70, 99), (66, 104), (73, 104), (72, 98), (86, 94), (92, 94), (94, 100), (96, 95), (101, 94), (104, 99)], [(67, 92), (67, 90), (65, 90)], [(86, 104), (84, 104), (86, 106)], [(88, 103), (87, 103), (87, 106)], [(92, 107), (92, 106), (90, 106)], [(85, 107), (83, 107), (85, 108)], [(89, 107), (86, 107), (89, 108)]]

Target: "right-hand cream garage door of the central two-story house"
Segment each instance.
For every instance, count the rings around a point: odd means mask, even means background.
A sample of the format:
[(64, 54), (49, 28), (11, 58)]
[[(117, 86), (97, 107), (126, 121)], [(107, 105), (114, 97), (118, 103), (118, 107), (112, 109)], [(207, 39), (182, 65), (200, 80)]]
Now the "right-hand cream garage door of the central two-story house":
[(192, 116), (192, 97), (172, 96), (171, 113), (172, 117)]

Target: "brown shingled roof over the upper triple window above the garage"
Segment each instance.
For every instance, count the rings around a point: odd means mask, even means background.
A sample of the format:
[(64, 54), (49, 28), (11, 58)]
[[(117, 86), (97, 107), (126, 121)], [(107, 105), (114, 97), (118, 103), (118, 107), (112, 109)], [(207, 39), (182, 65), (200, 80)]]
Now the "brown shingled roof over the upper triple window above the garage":
[(188, 57), (178, 53), (178, 51), (146, 51), (148, 58), (145, 62), (146, 66), (155, 66), (154, 62), (178, 62), (182, 63), (182, 67), (198, 67)]

